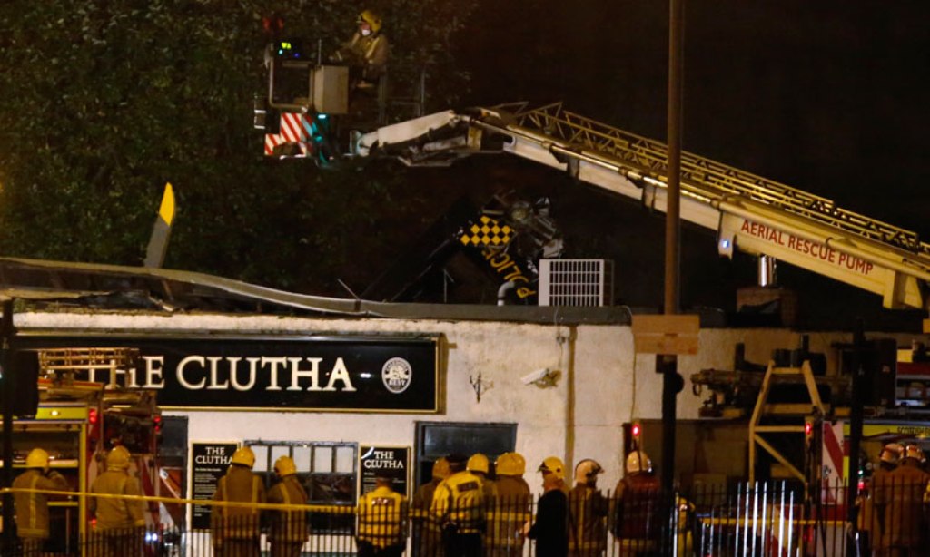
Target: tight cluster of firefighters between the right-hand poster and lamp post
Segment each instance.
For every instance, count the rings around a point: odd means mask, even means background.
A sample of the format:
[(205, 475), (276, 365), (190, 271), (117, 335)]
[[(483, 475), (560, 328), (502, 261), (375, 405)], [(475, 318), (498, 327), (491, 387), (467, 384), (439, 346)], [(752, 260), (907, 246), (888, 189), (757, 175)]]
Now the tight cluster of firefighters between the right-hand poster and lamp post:
[(493, 481), (489, 469), (481, 453), (435, 461), (432, 481), (420, 486), (413, 499), (415, 555), (512, 557), (523, 554), (530, 538), (540, 557), (596, 557), (607, 549), (608, 528), (631, 554), (657, 549), (660, 486), (642, 451), (627, 459), (626, 475), (612, 499), (597, 487), (604, 469), (596, 460), (578, 462), (574, 486), (566, 484), (563, 460), (543, 460), (537, 468), (543, 495), (535, 512), (523, 456), (500, 455)]

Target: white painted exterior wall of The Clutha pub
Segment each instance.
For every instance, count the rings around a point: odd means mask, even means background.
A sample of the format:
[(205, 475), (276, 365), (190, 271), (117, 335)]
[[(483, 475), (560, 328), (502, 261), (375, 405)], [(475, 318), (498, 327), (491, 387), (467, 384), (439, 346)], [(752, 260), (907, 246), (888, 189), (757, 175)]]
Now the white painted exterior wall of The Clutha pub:
[[(506, 421), (518, 423), (517, 451), (527, 461), (527, 481), (541, 491), (538, 462), (550, 455), (571, 467), (585, 458), (605, 469), (601, 486), (613, 488), (622, 470), (621, 424), (661, 417), (661, 377), (655, 356), (633, 353), (630, 327), (575, 328), (487, 321), (379, 318), (232, 317), (29, 313), (14, 318), (20, 329), (161, 330), (274, 333), (442, 333), (447, 340), (445, 407), (438, 415), (336, 412), (171, 412), (190, 419), (194, 440), (354, 441), (413, 446), (416, 421)], [(703, 396), (692, 394), (690, 376), (701, 369), (732, 369), (734, 346), (746, 344), (746, 358), (764, 363), (775, 348), (800, 345), (790, 330), (701, 330), (697, 356), (679, 358), (685, 387), (678, 396), (680, 418), (697, 418)], [(881, 335), (894, 336), (894, 335)], [(915, 335), (897, 335), (910, 343)], [(921, 335), (927, 342), (926, 335)], [(844, 333), (812, 333), (810, 347), (833, 355), (830, 343), (850, 342)], [(525, 385), (535, 369), (558, 369), (556, 386)], [(476, 400), (470, 377), (487, 382)], [(570, 470), (569, 470), (570, 471)]]

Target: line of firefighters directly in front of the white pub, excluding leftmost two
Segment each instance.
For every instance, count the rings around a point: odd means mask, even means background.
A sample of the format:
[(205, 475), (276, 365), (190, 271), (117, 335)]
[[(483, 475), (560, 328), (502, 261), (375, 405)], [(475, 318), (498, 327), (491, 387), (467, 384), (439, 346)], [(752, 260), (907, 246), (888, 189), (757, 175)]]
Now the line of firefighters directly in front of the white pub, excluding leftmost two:
[[(241, 447), (219, 479), (210, 530), (214, 553), (221, 557), (259, 554), (260, 510), (252, 504), (307, 503), (289, 457), (275, 461), (278, 483), (267, 495), (260, 477), (252, 473), (254, 464), (252, 450)], [(392, 477), (377, 475), (375, 488), (356, 506), (358, 554), (399, 557), (405, 551), (408, 521), (413, 525), (414, 554), (424, 557), (512, 557), (523, 554), (526, 538), (536, 540), (540, 556), (595, 557), (606, 550), (608, 524), (634, 550), (637, 543), (643, 552), (654, 548), (660, 525), (655, 519), (659, 485), (644, 453), (633, 452), (627, 460), (627, 475), (618, 484), (613, 505), (597, 489), (603, 469), (595, 460), (578, 462), (573, 487), (565, 484), (562, 460), (543, 460), (538, 472), (544, 494), (535, 516), (524, 479), (525, 459), (515, 452), (500, 455), (493, 481), (490, 464), (480, 453), (436, 460), (431, 481), (419, 486), (409, 508), (406, 498), (392, 489)], [(269, 519), (272, 557), (297, 557), (309, 535), (306, 512), (297, 507), (274, 511)]]

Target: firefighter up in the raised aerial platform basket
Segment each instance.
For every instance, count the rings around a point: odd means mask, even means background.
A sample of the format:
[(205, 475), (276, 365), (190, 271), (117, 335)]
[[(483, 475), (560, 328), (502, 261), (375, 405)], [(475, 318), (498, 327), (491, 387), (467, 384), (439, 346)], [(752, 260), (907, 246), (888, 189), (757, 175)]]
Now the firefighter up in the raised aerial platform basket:
[(388, 65), (388, 39), (381, 32), (378, 14), (366, 9), (356, 19), (357, 30), (333, 56), (334, 61), (350, 67), (352, 89), (373, 89)]

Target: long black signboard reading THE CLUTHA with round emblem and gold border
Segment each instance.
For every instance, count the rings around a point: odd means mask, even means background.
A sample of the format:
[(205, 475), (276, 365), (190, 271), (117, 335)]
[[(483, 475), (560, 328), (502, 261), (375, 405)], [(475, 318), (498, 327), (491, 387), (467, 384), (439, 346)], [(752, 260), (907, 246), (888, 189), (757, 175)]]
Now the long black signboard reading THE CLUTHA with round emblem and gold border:
[[(19, 349), (138, 348), (127, 387), (162, 408), (438, 411), (438, 337), (162, 336), (20, 332)], [(109, 382), (109, 371), (80, 379)]]

